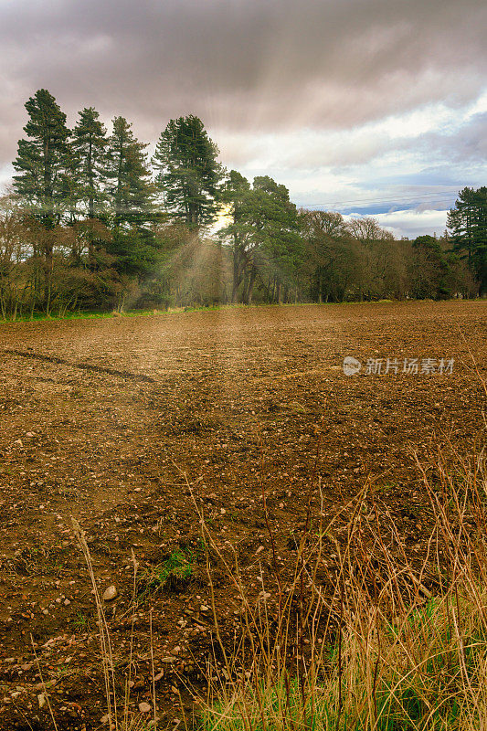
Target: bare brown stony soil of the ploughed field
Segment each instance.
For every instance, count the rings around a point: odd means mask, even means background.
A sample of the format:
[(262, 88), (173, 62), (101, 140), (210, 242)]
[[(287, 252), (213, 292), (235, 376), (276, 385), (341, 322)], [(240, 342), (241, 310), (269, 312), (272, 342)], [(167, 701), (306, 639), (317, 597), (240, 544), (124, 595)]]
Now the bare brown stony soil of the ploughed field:
[[(270, 593), (272, 584), (260, 482), (285, 581), (320, 433), (323, 512), (371, 479), (409, 550), (420, 552), (426, 508), (413, 454), (449, 440), (470, 450), (479, 437), (485, 399), (471, 355), (485, 378), (486, 315), (483, 302), (411, 302), (0, 326), (0, 728), (53, 727), (48, 706), (38, 707), (31, 633), (59, 729), (99, 727), (106, 713), (73, 516), (101, 592), (118, 589), (106, 606), (121, 677), (131, 551), (141, 573), (177, 549), (193, 556), (189, 580), (149, 592), (136, 610), (133, 707), (151, 703), (153, 609), (159, 716), (168, 724), (181, 715), (176, 686), (191, 709), (184, 683), (202, 682), (214, 642), (185, 474), (217, 545), (236, 547), (256, 598), (258, 577)], [(347, 377), (345, 355), (455, 362), (451, 375), (367, 376), (363, 367)], [(316, 493), (312, 506), (320, 510)], [(223, 572), (215, 601), (231, 638), (240, 603)]]

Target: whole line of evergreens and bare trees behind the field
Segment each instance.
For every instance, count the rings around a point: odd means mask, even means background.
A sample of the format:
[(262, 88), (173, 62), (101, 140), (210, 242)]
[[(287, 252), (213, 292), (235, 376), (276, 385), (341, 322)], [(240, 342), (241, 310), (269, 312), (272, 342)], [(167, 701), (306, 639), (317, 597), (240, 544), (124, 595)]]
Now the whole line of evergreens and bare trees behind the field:
[[(372, 217), (298, 209), (267, 175), (218, 163), (194, 115), (156, 143), (93, 107), (72, 129), (48, 90), (26, 102), (0, 200), (0, 316), (215, 302), (471, 297), (487, 291), (487, 188), (441, 238), (395, 240)], [(217, 225), (217, 222), (220, 225)]]

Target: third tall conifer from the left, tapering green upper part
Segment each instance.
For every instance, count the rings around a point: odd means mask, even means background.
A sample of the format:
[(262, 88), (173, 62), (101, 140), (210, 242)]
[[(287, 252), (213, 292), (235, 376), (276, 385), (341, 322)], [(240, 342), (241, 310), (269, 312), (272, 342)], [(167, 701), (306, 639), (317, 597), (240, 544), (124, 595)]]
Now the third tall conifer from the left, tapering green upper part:
[(136, 140), (126, 119), (115, 117), (104, 168), (115, 228), (124, 224), (142, 226), (154, 217), (154, 185), (144, 152), (146, 147), (147, 144)]

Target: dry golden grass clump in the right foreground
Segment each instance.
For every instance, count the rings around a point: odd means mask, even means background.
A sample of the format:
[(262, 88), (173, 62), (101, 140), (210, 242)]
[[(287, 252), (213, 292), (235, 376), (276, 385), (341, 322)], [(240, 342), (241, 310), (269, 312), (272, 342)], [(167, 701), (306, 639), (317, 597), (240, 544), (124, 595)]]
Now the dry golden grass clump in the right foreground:
[(206, 731), (487, 728), (485, 452), (465, 460), (451, 449), (418, 469), (433, 516), (420, 565), (394, 526), (386, 535), (378, 521), (365, 524), (367, 486), (345, 508), (351, 517), (346, 540), (335, 542), (332, 597), (318, 577), (333, 522), (312, 539), (306, 521), (291, 588), (283, 591), (276, 573), (277, 622), (265, 602), (250, 605), (237, 562), (226, 564), (244, 630), (231, 656), (222, 643), (225, 671), (201, 699)]

